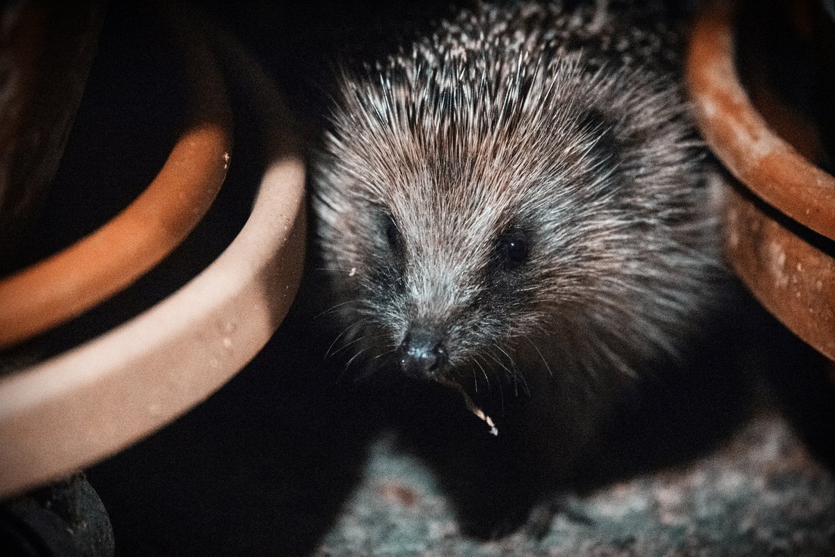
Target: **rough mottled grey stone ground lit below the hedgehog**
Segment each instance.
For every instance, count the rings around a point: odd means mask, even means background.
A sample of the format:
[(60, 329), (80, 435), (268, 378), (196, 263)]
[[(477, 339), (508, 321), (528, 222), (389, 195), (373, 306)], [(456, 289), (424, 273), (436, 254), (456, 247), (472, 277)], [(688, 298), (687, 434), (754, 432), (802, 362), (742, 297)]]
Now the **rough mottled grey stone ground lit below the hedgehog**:
[(316, 557), (831, 555), (835, 480), (781, 418), (753, 419), (712, 454), (569, 495), (543, 539), (460, 534), (432, 474), (382, 437)]

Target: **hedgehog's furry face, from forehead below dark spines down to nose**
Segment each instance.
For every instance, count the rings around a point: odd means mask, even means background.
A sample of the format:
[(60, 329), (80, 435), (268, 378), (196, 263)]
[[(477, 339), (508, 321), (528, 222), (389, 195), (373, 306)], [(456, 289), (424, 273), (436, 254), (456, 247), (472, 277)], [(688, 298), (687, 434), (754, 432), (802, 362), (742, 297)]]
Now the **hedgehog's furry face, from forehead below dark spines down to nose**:
[(575, 221), (595, 204), (554, 193), (542, 153), (375, 160), (351, 143), (316, 170), (324, 265), (356, 324), (342, 339), (415, 377), (517, 374), (584, 279)]

